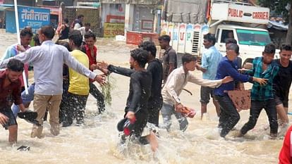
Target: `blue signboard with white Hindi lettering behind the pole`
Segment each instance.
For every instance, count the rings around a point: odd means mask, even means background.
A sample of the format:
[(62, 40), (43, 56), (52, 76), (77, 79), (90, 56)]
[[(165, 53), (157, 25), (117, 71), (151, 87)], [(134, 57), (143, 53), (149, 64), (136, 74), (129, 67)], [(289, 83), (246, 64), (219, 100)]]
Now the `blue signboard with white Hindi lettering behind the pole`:
[[(18, 6), (19, 28), (30, 26), (36, 33), (40, 27), (50, 25), (50, 10), (30, 6)], [(16, 18), (14, 11), (6, 12), (6, 32), (16, 33)]]

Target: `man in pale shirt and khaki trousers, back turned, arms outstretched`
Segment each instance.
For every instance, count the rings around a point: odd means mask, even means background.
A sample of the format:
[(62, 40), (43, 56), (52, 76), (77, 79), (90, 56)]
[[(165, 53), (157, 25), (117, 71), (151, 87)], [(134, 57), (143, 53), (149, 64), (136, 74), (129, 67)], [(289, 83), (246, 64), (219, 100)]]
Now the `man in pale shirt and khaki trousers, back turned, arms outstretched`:
[[(59, 106), (63, 92), (63, 64), (68, 65), (76, 72), (79, 72), (92, 80), (104, 83), (104, 77), (85, 68), (84, 65), (76, 61), (69, 51), (61, 45), (54, 44), (53, 27), (46, 25), (39, 30), (39, 42), (41, 46), (34, 46), (24, 53), (20, 53), (16, 58), (23, 63), (32, 63), (35, 77), (35, 99), (33, 101), (34, 110), (37, 112), (37, 121), (42, 125), (44, 113), (48, 108), (51, 125), (51, 134), (59, 134)], [(0, 68), (7, 65), (8, 58), (0, 61)], [(31, 137), (42, 137), (42, 126), (32, 127)]]

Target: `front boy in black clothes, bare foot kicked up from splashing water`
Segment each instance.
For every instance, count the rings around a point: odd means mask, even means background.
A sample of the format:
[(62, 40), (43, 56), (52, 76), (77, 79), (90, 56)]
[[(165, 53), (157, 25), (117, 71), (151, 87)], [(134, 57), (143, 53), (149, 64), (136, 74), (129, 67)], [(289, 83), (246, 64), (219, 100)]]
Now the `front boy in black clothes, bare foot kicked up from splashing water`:
[(155, 134), (146, 127), (148, 121), (147, 102), (151, 95), (152, 75), (145, 69), (148, 52), (142, 49), (130, 51), (130, 68), (134, 69), (130, 75), (130, 92), (125, 108), (125, 118), (135, 120), (135, 127), (130, 135), (138, 139), (146, 138), (150, 142), (152, 151), (158, 147)]

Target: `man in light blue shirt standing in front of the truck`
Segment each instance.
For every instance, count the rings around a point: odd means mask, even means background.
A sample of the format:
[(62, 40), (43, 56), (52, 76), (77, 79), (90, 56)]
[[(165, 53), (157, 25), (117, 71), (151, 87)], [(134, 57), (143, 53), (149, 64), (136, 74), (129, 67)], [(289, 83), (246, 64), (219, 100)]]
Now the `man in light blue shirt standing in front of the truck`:
[[(202, 65), (197, 65), (197, 70), (203, 72), (202, 78), (205, 80), (215, 80), (217, 67), (221, 61), (222, 55), (215, 48), (216, 38), (208, 33), (204, 35), (204, 46), (207, 51), (202, 54)], [(209, 103), (210, 95), (213, 97), (214, 89), (211, 87), (201, 87), (201, 118), (204, 113), (207, 113), (207, 103)], [(214, 106), (216, 107), (217, 115), (219, 116), (220, 109), (218, 102), (213, 99)]]

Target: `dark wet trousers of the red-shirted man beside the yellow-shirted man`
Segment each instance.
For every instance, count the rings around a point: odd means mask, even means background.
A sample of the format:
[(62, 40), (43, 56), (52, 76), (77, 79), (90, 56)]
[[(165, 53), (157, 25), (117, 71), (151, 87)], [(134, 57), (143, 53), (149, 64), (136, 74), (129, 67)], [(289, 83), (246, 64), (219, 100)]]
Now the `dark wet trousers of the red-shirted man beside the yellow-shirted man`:
[(99, 89), (97, 89), (95, 84), (93, 84), (92, 82), (90, 82), (90, 94), (94, 96), (95, 99), (97, 99), (97, 108), (99, 113), (105, 111), (104, 95), (102, 94), (102, 92), (99, 91)]

